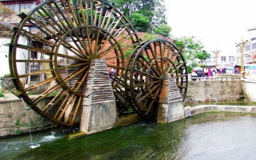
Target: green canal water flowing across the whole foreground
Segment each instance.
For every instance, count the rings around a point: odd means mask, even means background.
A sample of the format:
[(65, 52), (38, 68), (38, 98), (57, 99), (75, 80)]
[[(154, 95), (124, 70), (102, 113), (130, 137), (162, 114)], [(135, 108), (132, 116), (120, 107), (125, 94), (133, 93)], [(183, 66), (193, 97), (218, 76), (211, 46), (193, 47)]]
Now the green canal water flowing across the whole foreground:
[[(228, 104), (229, 105), (229, 104)], [(255, 106), (255, 105), (251, 105)], [(256, 113), (208, 112), (76, 140), (52, 131), (0, 140), (0, 159), (256, 159)]]

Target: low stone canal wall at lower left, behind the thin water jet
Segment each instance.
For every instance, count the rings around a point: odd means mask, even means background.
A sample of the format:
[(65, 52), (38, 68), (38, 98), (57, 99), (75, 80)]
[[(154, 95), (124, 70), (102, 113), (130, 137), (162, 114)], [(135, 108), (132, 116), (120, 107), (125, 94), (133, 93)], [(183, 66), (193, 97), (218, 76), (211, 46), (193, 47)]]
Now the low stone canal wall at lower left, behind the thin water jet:
[[(44, 107), (49, 99), (42, 100), (38, 106)], [(26, 106), (26, 105), (25, 105)], [(29, 109), (28, 107), (26, 107)], [(28, 113), (28, 119), (26, 116)], [(24, 109), (22, 100), (12, 94), (0, 98), (0, 138), (28, 134), (28, 121), (31, 132), (51, 127), (51, 121), (38, 115), (33, 109)]]

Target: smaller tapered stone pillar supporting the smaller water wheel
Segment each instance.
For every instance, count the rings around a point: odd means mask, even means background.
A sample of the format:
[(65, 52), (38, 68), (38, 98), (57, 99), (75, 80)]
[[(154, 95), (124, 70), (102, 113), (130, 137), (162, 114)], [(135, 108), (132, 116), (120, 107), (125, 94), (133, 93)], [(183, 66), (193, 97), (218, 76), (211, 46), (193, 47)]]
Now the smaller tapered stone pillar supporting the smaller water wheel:
[(163, 90), (159, 97), (157, 122), (173, 122), (184, 117), (183, 98), (175, 79), (172, 77), (164, 79)]

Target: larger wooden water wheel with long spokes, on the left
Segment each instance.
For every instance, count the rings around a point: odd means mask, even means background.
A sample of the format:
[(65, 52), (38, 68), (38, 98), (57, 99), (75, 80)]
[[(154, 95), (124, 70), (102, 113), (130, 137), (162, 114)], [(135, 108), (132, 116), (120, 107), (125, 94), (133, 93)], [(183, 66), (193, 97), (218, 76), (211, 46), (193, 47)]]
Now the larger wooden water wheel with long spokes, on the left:
[[(22, 14), (10, 42), (10, 73), (20, 97), (36, 113), (71, 127), (81, 120), (93, 59), (106, 60), (118, 115), (136, 112), (125, 92), (129, 88), (124, 82), (125, 58), (129, 55), (124, 52), (137, 45), (140, 38), (130, 22), (106, 1), (46, 0)], [(47, 104), (39, 108), (42, 100)]]

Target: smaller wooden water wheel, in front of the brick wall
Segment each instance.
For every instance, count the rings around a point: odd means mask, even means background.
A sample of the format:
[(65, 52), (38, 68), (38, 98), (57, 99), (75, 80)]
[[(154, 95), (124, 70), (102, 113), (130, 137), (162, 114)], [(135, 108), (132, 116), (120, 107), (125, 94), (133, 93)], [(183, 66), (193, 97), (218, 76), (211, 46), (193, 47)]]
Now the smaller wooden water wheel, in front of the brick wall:
[(129, 61), (125, 67), (128, 99), (141, 116), (156, 120), (159, 95), (164, 79), (169, 77), (175, 79), (185, 99), (188, 75), (183, 71), (186, 63), (172, 42), (163, 39), (143, 42), (136, 47)]

